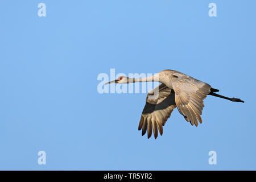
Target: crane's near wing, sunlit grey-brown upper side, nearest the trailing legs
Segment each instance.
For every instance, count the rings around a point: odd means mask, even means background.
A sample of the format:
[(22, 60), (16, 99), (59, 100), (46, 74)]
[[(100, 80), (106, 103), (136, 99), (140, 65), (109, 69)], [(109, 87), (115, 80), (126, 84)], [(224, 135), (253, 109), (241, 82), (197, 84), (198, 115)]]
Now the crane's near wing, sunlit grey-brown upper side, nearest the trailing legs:
[(177, 109), (184, 118), (197, 126), (197, 120), (202, 123), (200, 115), (204, 107), (203, 100), (210, 93), (210, 85), (196, 80), (183, 73), (174, 73), (172, 87), (175, 92), (175, 102)]

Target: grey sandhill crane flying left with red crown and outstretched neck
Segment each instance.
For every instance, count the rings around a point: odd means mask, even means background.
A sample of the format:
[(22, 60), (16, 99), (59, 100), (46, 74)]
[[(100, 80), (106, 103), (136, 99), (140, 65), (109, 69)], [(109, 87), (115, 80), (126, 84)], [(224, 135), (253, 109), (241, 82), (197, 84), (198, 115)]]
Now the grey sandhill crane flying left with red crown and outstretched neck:
[[(139, 130), (142, 129), (142, 136), (147, 130), (148, 138), (152, 135), (152, 129), (155, 139), (158, 137), (158, 130), (160, 135), (163, 134), (163, 126), (175, 107), (177, 107), (186, 121), (190, 122), (192, 126), (194, 124), (197, 126), (198, 121), (202, 123), (200, 115), (204, 107), (203, 100), (208, 95), (225, 98), (233, 102), (243, 102), (239, 98), (229, 98), (216, 94), (215, 92), (219, 90), (212, 88), (209, 84), (170, 69), (144, 78), (120, 76), (106, 84), (128, 84), (145, 81), (158, 81), (162, 83), (148, 92), (146, 105), (139, 122)], [(156, 92), (158, 92), (158, 97), (150, 99), (150, 96), (153, 96)]]

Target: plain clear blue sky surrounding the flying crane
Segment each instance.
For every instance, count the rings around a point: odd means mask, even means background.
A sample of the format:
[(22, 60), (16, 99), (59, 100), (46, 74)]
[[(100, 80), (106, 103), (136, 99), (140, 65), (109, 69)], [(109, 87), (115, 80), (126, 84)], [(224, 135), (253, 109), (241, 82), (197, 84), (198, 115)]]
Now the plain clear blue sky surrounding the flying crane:
[[(46, 3), (46, 17), (38, 4)], [(209, 3), (217, 17), (209, 17)], [(1, 3), (0, 169), (256, 169), (256, 1)], [(239, 97), (209, 96), (203, 123), (177, 110), (141, 136), (146, 94), (100, 94), (100, 73), (175, 69)], [(217, 152), (209, 165), (208, 152)], [(38, 152), (46, 151), (46, 165)]]

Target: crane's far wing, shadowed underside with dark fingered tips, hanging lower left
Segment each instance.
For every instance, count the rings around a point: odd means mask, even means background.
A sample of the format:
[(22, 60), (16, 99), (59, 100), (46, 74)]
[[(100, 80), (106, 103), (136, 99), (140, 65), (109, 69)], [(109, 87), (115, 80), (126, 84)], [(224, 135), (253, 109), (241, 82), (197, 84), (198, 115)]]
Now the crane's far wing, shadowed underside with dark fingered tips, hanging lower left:
[[(150, 99), (150, 96), (157, 95), (157, 98)], [(158, 130), (160, 135), (162, 135), (163, 126), (175, 107), (174, 90), (168, 88), (166, 85), (160, 84), (148, 92), (146, 105), (144, 106), (141, 121), (139, 122), (139, 130), (142, 129), (142, 136), (147, 130), (147, 137), (150, 138), (152, 135), (152, 129), (155, 139), (158, 137)]]

